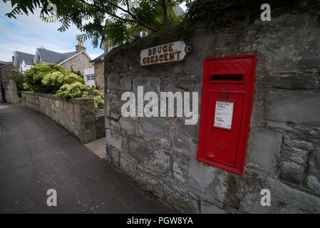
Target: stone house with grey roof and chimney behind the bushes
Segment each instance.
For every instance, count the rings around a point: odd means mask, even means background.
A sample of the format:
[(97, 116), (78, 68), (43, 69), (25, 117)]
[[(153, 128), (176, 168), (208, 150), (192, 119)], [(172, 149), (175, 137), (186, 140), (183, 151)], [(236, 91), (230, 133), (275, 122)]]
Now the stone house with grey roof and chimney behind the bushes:
[(50, 51), (46, 48), (36, 48), (36, 55), (33, 58), (35, 64), (38, 63), (56, 63), (58, 66), (62, 66), (67, 71), (80, 71), (84, 74), (86, 68), (92, 66), (91, 57), (86, 52), (86, 47), (83, 46), (83, 42), (78, 41), (76, 45), (76, 51), (59, 53), (56, 51)]

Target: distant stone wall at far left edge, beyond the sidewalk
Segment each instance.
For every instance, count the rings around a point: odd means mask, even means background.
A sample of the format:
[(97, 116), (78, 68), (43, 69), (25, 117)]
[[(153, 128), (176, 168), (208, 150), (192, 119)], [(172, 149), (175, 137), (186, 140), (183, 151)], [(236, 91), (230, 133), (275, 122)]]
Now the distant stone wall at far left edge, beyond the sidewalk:
[(9, 63), (5, 66), (1, 66), (0, 73), (2, 77), (2, 83), (4, 85), (4, 95), (6, 97), (6, 102), (8, 103), (19, 103), (21, 99), (18, 95), (18, 90), (16, 88), (16, 82), (10, 78), (11, 70), (14, 69), (14, 65)]

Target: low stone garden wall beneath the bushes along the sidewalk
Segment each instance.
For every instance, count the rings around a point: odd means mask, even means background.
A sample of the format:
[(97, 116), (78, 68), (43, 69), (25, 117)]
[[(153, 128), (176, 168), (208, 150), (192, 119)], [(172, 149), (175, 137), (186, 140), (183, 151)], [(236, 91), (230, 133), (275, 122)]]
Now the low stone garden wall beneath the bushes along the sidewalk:
[(22, 92), (22, 103), (32, 110), (42, 113), (66, 128), (82, 143), (103, 138), (103, 119), (95, 113), (91, 98), (59, 100), (56, 95)]

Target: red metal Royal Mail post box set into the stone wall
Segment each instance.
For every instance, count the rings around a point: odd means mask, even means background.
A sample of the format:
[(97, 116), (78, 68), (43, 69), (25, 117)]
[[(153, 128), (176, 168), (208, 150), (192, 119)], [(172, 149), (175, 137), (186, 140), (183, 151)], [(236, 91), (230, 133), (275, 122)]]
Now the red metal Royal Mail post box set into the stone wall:
[(205, 58), (197, 160), (242, 174), (256, 65), (256, 54)]

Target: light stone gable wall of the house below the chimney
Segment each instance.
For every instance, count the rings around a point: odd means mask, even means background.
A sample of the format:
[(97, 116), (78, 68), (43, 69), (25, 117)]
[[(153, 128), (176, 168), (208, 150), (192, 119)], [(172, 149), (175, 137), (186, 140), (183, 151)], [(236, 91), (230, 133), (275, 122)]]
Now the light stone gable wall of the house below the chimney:
[(80, 71), (83, 74), (83, 70), (90, 68), (92, 63), (90, 58), (85, 53), (80, 53), (77, 56), (69, 59), (65, 63), (62, 63), (61, 66), (67, 71)]

